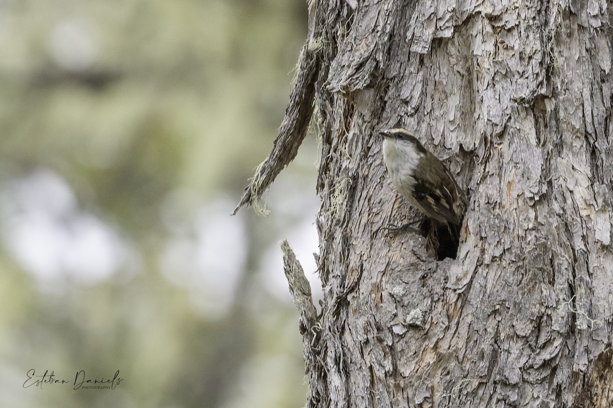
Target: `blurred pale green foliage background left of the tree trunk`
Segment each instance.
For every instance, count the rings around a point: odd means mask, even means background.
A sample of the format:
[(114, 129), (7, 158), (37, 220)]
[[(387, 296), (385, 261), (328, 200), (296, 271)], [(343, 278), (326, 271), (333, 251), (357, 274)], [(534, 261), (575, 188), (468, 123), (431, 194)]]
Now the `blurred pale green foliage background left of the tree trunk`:
[[(306, 24), (303, 1), (0, 2), (0, 406), (303, 405), (297, 313), (259, 270), (305, 209), (229, 213)], [(314, 161), (277, 194), (314, 196)], [(31, 368), (124, 381), (24, 389)]]

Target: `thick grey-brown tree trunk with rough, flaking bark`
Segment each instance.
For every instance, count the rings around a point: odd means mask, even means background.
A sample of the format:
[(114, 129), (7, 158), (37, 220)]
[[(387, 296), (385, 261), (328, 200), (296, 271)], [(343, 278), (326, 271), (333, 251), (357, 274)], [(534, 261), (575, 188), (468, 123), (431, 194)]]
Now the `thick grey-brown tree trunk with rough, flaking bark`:
[[(612, 6), (309, 7), (275, 142), (300, 144), (314, 93), (319, 315), (284, 245), (308, 406), (612, 407)], [(382, 229), (417, 216), (381, 157), (377, 131), (397, 124), (468, 195), (457, 259), (436, 261), (421, 236)], [(273, 150), (242, 204), (292, 157)]]

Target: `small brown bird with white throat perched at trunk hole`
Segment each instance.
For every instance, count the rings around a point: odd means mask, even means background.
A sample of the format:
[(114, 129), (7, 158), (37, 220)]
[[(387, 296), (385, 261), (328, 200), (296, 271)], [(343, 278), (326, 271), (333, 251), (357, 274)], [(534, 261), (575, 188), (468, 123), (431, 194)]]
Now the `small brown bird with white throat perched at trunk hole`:
[(459, 228), (468, 201), (443, 162), (406, 129), (379, 133), (383, 161), (398, 192), (427, 217)]

